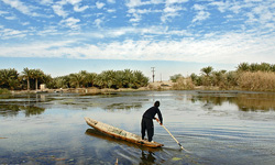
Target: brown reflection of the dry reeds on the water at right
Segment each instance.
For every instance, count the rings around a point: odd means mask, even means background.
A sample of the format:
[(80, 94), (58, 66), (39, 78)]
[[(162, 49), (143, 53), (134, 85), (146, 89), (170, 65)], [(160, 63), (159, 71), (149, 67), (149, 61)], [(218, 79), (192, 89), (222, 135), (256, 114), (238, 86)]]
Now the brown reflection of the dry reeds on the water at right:
[(239, 95), (194, 95), (190, 98), (191, 102), (204, 102), (204, 109), (213, 109), (215, 106), (222, 106), (223, 103), (232, 103), (238, 106), (241, 111), (271, 111), (275, 110), (275, 94), (239, 94)]

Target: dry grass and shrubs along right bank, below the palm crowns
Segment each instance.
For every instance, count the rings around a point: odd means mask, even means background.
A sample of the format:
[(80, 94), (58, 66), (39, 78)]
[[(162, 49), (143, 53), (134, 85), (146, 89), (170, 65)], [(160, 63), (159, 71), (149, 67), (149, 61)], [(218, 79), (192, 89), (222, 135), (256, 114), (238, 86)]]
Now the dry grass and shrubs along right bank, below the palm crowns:
[(201, 75), (196, 78), (179, 77), (172, 89), (191, 90), (196, 87), (216, 90), (249, 90), (249, 91), (275, 91), (274, 72), (231, 72), (223, 74)]

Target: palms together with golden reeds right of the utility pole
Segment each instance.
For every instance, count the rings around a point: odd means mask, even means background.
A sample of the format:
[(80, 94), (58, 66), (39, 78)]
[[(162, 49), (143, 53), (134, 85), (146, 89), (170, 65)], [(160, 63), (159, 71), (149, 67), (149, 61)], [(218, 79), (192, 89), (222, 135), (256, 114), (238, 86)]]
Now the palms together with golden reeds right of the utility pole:
[[(170, 76), (170, 80), (182, 84), (178, 89), (193, 89), (195, 86), (219, 87), (219, 89), (241, 89), (275, 91), (275, 64), (241, 63), (235, 70), (215, 70), (208, 66), (200, 69), (200, 74), (186, 77), (180, 74)], [(184, 87), (183, 87), (184, 86)]]

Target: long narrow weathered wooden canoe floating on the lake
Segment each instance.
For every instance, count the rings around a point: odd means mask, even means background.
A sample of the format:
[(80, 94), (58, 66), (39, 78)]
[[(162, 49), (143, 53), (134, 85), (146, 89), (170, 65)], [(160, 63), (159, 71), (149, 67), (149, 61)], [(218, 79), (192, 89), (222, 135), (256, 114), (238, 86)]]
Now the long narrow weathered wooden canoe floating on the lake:
[(96, 121), (92, 120), (90, 118), (85, 118), (85, 121), (87, 122), (88, 125), (92, 127), (94, 129), (110, 135), (112, 138), (119, 139), (119, 140), (123, 140), (123, 141), (128, 141), (131, 143), (135, 143), (142, 146), (147, 146), (147, 147), (161, 147), (163, 146), (163, 144), (157, 143), (157, 142), (148, 142), (146, 140), (142, 140), (142, 138), (138, 134), (134, 133), (130, 133), (128, 131), (114, 128), (112, 125), (102, 123), (100, 121)]

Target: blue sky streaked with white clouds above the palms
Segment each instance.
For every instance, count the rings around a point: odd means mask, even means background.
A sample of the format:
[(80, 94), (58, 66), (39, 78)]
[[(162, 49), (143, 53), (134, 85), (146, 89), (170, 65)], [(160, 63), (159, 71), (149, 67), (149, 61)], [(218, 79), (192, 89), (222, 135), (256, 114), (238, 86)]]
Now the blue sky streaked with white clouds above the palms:
[(275, 63), (275, 0), (0, 0), (0, 69), (156, 80)]

